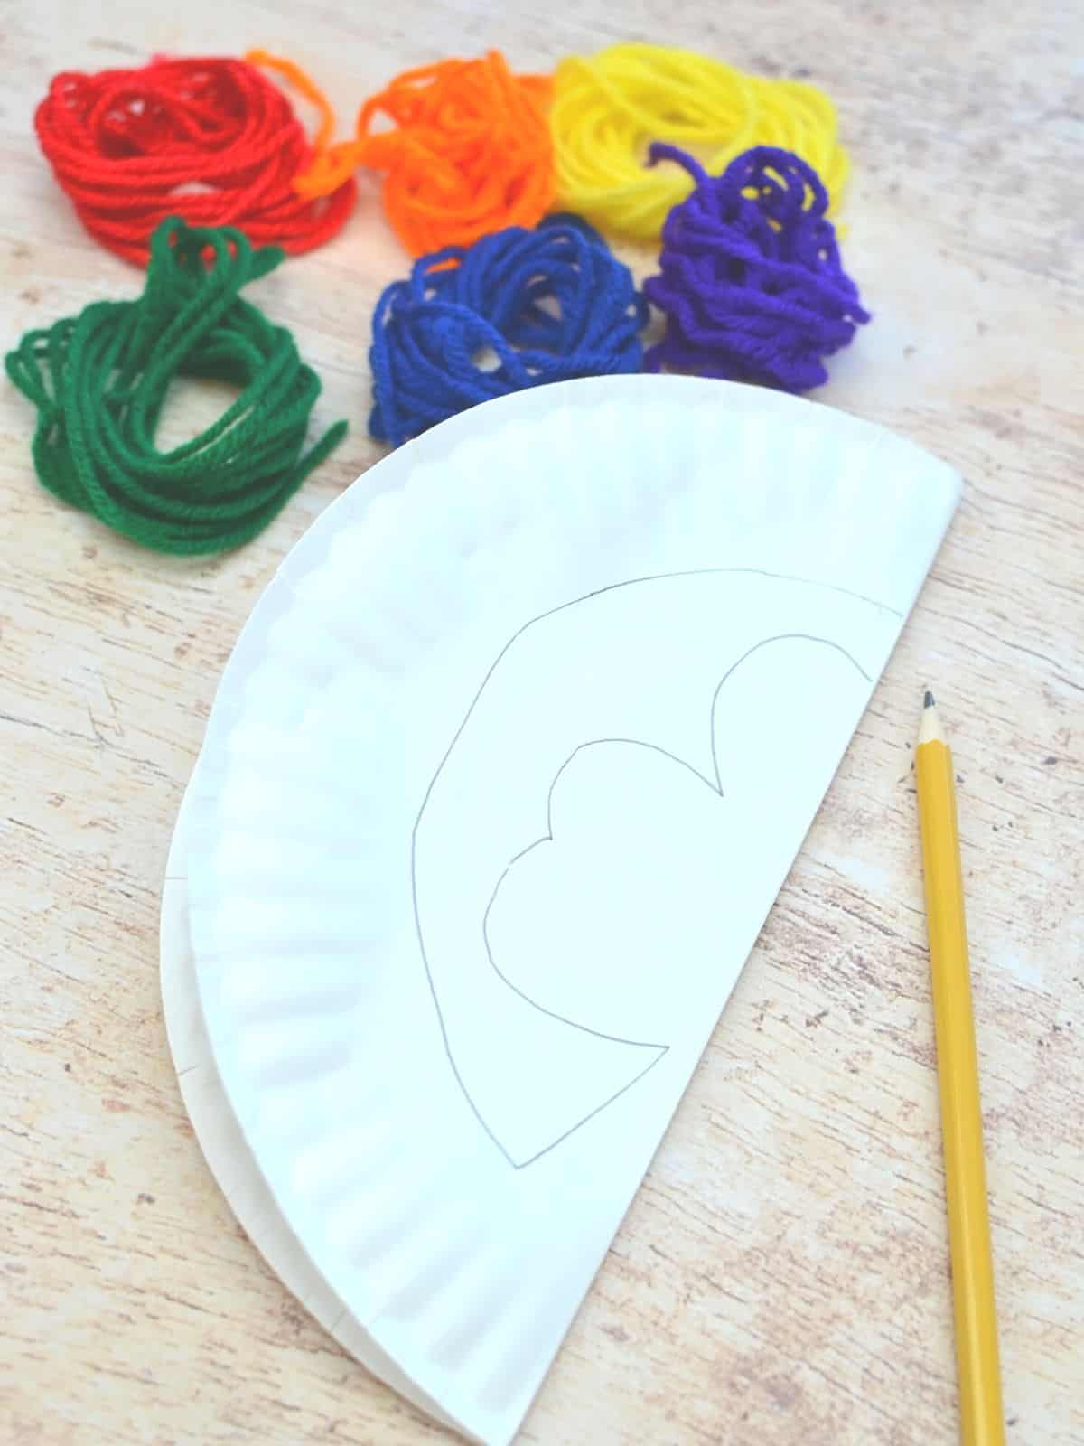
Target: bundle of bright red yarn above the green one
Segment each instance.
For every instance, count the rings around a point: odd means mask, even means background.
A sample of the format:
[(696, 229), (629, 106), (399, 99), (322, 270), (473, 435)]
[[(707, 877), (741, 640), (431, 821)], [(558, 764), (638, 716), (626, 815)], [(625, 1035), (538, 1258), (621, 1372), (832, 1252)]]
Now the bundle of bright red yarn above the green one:
[(145, 266), (150, 236), (168, 215), (237, 226), (254, 246), (292, 253), (330, 240), (354, 205), (353, 178), (318, 200), (293, 187), (325, 143), (325, 103), (321, 110), (314, 146), (289, 100), (254, 65), (156, 59), (56, 75), (35, 126), (91, 236)]

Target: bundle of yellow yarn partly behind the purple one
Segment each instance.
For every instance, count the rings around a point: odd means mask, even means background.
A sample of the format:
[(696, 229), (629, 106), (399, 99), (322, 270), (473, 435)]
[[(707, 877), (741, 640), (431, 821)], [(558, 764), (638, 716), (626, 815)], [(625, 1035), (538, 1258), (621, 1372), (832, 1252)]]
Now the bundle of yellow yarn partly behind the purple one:
[(710, 175), (750, 146), (793, 150), (821, 176), (833, 210), (850, 169), (824, 91), (665, 45), (611, 45), (561, 61), (551, 130), (559, 207), (645, 241), (692, 189), (678, 166), (645, 165), (653, 140), (691, 150)]

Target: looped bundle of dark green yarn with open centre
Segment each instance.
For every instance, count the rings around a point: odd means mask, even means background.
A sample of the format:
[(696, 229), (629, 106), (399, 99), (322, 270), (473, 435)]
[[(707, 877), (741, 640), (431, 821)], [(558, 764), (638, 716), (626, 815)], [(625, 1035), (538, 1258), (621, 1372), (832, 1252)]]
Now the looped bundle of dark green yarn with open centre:
[[(256, 536), (347, 429), (337, 422), (304, 451), (319, 377), (291, 333), (238, 296), (282, 259), (233, 227), (171, 217), (152, 237), (139, 301), (98, 301), (29, 331), (6, 366), (38, 408), (42, 484), (159, 552), (221, 552)], [(160, 453), (155, 431), (178, 375), (241, 395)]]

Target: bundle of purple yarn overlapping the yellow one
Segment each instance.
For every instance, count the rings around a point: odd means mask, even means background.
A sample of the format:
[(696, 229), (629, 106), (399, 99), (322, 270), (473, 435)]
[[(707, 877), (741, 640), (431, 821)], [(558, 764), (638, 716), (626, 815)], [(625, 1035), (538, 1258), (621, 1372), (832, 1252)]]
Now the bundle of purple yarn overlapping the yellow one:
[(676, 146), (653, 145), (656, 161), (676, 161), (697, 187), (666, 217), (661, 275), (643, 285), (666, 315), (645, 367), (786, 392), (827, 382), (822, 359), (870, 318), (843, 269), (812, 166), (775, 146), (746, 150), (721, 176)]

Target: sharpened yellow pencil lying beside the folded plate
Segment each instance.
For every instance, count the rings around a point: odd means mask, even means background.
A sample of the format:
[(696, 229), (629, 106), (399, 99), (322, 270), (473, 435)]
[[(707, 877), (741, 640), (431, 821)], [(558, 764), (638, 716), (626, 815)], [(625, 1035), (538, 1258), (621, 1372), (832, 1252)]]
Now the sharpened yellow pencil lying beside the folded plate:
[(961, 1446), (1003, 1446), (983, 1112), (971, 1017), (955, 784), (952, 755), (941, 732), (932, 693), (926, 693), (922, 709), (915, 771), (945, 1151), (945, 1203), (960, 1374), (960, 1440)]

